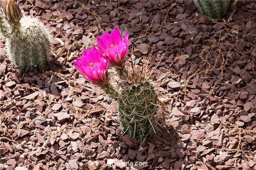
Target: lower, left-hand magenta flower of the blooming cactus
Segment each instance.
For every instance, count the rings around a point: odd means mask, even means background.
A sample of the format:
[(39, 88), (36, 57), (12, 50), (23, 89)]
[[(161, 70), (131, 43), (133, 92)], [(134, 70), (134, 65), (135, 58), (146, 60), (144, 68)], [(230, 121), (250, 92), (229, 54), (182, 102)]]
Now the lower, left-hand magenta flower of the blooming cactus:
[(96, 47), (84, 49), (82, 57), (78, 57), (73, 63), (84, 78), (92, 83), (103, 85), (107, 81), (109, 59), (104, 59)]

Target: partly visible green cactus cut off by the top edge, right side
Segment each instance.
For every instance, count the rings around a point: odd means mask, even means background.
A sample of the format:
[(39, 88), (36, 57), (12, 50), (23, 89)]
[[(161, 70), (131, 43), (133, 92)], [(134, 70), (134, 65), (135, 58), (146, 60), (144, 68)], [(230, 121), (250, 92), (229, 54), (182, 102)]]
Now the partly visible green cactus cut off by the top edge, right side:
[(226, 10), (230, 0), (194, 0), (198, 10), (211, 18), (221, 18)]

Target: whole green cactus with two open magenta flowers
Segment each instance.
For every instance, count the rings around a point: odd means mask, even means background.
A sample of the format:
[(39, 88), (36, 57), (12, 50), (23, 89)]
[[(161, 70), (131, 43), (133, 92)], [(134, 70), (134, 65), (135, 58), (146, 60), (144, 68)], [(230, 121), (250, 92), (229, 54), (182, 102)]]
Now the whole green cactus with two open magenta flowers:
[[(84, 50), (82, 57), (73, 62), (75, 67), (85, 79), (102, 87), (118, 102), (118, 116), (124, 133), (142, 139), (156, 132), (158, 93), (148, 80), (146, 67), (138, 71), (135, 66), (126, 65), (126, 51), (130, 43), (128, 32), (122, 40), (120, 30), (114, 28), (111, 34), (104, 32), (97, 40), (99, 50), (96, 51), (95, 47)], [(116, 87), (109, 81), (108, 64), (116, 69)]]

